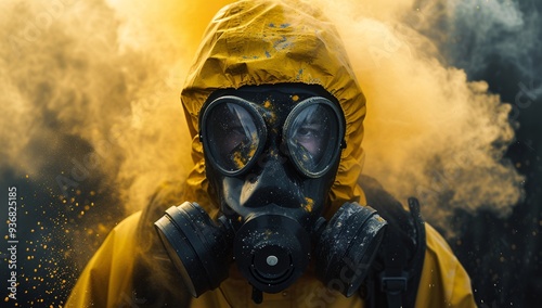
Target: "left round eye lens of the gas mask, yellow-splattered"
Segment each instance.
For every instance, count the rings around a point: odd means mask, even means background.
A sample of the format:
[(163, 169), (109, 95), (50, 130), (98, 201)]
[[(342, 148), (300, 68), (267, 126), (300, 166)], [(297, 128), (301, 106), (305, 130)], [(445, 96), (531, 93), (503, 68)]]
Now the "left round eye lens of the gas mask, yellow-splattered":
[(266, 126), (249, 102), (229, 97), (214, 101), (202, 119), (204, 149), (228, 175), (243, 170), (262, 145)]

